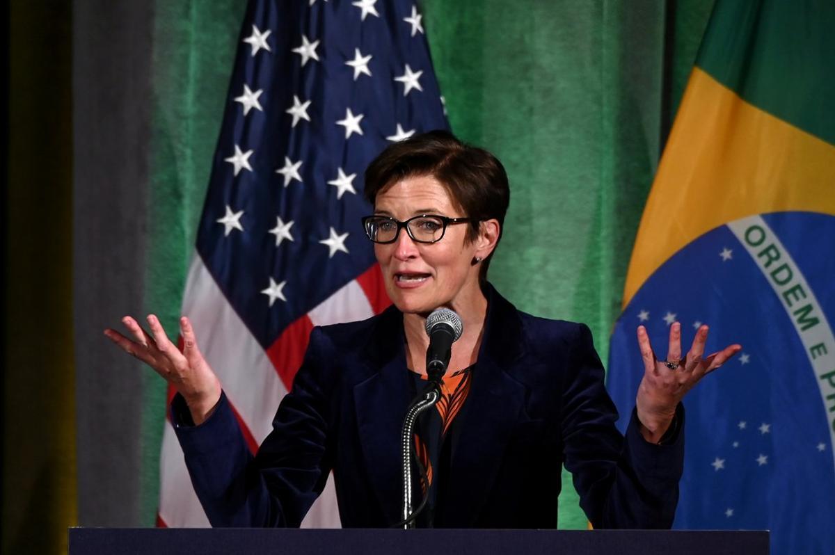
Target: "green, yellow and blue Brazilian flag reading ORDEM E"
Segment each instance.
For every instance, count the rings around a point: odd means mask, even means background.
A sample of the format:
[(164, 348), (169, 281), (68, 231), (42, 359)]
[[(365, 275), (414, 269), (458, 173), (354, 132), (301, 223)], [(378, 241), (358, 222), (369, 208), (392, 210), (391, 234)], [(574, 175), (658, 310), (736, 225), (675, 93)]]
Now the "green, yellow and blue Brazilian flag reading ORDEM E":
[[(835, 552), (835, 3), (719, 0), (655, 176), (611, 339), (629, 415), (643, 364), (739, 355), (685, 399), (676, 528), (769, 529), (773, 553)], [(691, 332), (691, 333), (688, 333)], [(621, 425), (625, 422), (621, 419)]]

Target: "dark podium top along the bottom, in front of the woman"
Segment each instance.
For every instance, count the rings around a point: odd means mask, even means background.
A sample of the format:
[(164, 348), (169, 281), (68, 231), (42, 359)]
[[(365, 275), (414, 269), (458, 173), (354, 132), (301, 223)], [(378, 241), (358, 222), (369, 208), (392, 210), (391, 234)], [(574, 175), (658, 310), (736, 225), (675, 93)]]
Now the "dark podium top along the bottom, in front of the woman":
[(69, 555), (768, 555), (768, 532), (70, 528)]

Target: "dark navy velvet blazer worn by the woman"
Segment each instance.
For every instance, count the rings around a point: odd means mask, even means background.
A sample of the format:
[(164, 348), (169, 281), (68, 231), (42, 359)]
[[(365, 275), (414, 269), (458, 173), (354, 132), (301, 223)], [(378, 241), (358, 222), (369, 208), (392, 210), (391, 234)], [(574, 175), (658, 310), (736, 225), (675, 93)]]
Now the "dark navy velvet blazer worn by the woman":
[[(633, 411), (621, 436), (590, 330), (519, 312), (491, 286), (486, 293), (483, 341), (434, 525), (555, 527), (564, 463), (595, 527), (671, 527), (683, 432), (650, 444)], [(175, 397), (172, 421), (212, 525), (298, 526), (331, 470), (342, 526), (399, 521), (410, 381), (402, 313), (392, 306), (311, 332), (256, 457), (225, 396), (200, 426), (189, 426)], [(682, 418), (680, 406), (680, 430)]]

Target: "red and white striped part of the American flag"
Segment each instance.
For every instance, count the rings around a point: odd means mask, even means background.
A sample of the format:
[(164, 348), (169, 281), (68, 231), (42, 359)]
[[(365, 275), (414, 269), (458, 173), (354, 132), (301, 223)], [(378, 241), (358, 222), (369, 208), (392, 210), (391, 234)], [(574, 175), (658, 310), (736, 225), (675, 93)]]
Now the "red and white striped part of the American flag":
[[(313, 326), (364, 320), (390, 302), (375, 264), (293, 322), (265, 351), (195, 253), (182, 314), (190, 318), (200, 350), (220, 379), (241, 431), (255, 452), (272, 429), (272, 418), (301, 366)], [(159, 526), (208, 527), (209, 521), (191, 487), (180, 444), (167, 420), (159, 464)], [(340, 527), (332, 480), (328, 480), (302, 527)]]

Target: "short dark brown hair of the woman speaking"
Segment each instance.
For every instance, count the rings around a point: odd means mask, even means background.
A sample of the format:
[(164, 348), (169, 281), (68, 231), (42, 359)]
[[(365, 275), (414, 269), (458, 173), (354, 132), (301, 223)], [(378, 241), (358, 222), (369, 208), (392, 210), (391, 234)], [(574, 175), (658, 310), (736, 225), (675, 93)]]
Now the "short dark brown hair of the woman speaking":
[[(448, 131), (430, 131), (389, 145), (366, 169), (365, 198), (373, 205), (377, 194), (397, 181), (424, 175), (438, 179), (448, 190), (453, 204), (458, 205), (464, 216), (473, 219), (466, 240), (475, 240), (480, 222), (493, 218), (498, 219), (498, 239), (501, 239), (504, 214), (510, 204), (508, 174), (493, 154), (461, 142)], [(478, 270), (482, 285), (491, 258), (493, 253), (483, 260)]]

